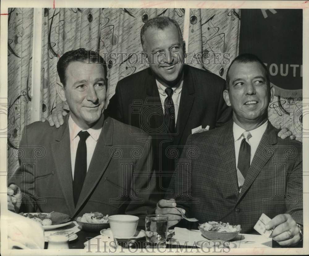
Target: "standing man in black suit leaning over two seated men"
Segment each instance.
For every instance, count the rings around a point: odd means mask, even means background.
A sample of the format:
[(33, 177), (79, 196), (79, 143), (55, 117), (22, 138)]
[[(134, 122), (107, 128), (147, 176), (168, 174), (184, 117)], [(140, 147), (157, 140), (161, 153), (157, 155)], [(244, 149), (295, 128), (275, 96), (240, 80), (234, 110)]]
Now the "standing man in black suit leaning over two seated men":
[[(185, 42), (175, 20), (164, 16), (148, 20), (141, 43), (149, 68), (120, 80), (104, 113), (153, 137), (158, 187), (170, 193), (174, 160), (188, 136), (225, 124), (232, 110), (222, 98), (224, 79), (184, 64)], [(59, 127), (61, 112), (49, 122)]]

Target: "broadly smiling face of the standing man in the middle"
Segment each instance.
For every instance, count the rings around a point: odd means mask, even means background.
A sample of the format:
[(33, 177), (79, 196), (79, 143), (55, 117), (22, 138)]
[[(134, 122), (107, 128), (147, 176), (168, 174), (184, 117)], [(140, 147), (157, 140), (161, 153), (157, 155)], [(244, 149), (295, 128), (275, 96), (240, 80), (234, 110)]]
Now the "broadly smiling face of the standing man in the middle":
[(172, 87), (182, 76), (184, 42), (174, 24), (163, 30), (148, 28), (145, 32), (145, 52), (156, 79), (164, 86)]

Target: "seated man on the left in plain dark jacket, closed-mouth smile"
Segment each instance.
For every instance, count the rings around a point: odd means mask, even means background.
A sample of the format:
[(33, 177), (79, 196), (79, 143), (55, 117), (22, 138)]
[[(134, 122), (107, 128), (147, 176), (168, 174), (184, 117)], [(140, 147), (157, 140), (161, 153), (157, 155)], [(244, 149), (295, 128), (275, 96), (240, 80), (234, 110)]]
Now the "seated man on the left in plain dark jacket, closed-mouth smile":
[[(8, 181), (9, 188), (18, 191), (9, 192), (10, 208), (71, 217), (90, 212), (150, 214), (156, 184), (151, 138), (137, 139), (129, 131), (140, 133), (138, 128), (129, 129), (102, 114), (107, 88), (104, 60), (96, 52), (78, 49), (61, 56), (57, 69), (61, 81), (57, 92), (68, 102), (70, 115), (59, 129), (41, 122), (26, 126), (19, 146), (20, 167)], [(78, 153), (83, 140), (79, 131), (88, 133), (84, 155)], [(80, 171), (80, 166), (85, 168)]]

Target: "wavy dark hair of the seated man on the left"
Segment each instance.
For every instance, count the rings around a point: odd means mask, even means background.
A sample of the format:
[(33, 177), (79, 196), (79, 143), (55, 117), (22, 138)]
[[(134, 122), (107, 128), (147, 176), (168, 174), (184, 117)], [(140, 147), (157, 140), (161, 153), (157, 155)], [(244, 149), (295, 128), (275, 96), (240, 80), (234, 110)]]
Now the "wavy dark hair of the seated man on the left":
[(107, 76), (107, 65), (99, 52), (85, 50), (85, 48), (79, 48), (77, 50), (69, 51), (63, 54), (57, 62), (57, 72), (60, 78), (60, 82), (63, 86), (66, 86), (66, 68), (73, 61), (87, 62), (89, 64), (101, 64), (104, 69), (105, 78)]

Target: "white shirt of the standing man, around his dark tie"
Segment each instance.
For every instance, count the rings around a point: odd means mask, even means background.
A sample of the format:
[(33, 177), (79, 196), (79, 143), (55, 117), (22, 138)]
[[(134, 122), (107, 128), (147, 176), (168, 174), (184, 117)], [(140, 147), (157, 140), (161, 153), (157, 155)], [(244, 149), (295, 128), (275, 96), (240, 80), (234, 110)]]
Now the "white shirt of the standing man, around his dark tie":
[[(163, 114), (164, 114), (164, 101), (167, 97), (167, 94), (165, 93), (165, 89), (167, 88), (166, 86), (162, 85), (158, 80), (157, 82), (157, 87), (159, 90), (159, 95), (161, 99), (161, 104), (163, 108)], [(175, 87), (172, 87), (173, 89), (173, 95), (172, 95), (172, 100), (174, 102), (175, 106), (175, 126), (177, 123), (177, 117), (178, 117), (178, 109), (179, 109), (179, 103), (180, 103), (180, 96), (181, 96), (181, 91), (182, 91), (182, 84), (184, 82), (184, 75), (182, 75), (180, 81), (177, 83)]]

